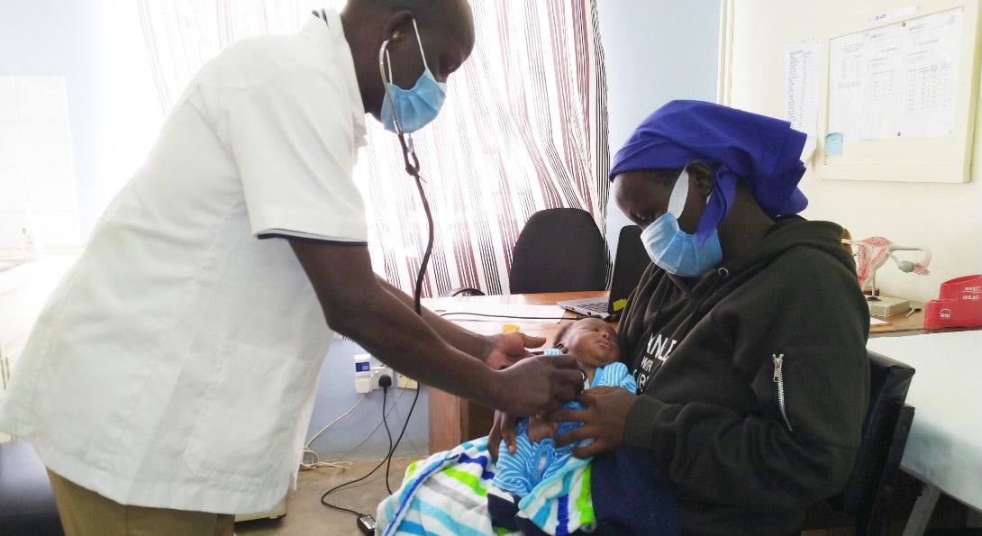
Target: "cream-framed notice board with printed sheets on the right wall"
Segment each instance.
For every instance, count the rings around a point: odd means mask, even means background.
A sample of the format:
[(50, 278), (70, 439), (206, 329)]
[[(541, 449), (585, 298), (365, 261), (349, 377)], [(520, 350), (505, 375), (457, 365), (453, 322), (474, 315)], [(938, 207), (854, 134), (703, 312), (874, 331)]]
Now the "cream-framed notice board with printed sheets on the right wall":
[[(979, 4), (832, 0), (802, 9), (781, 0), (730, 0), (729, 9), (732, 17), (767, 20), (760, 30), (793, 48), (786, 73), (808, 73), (796, 79), (804, 86), (796, 95), (815, 94), (814, 109), (804, 108), (814, 119), (802, 130), (813, 138), (809, 167), (819, 178), (964, 183), (982, 78)], [(780, 27), (772, 27), (776, 21)], [(729, 37), (731, 46), (748, 39)], [(814, 72), (802, 67), (811, 62)], [(811, 92), (808, 77), (817, 80)]]

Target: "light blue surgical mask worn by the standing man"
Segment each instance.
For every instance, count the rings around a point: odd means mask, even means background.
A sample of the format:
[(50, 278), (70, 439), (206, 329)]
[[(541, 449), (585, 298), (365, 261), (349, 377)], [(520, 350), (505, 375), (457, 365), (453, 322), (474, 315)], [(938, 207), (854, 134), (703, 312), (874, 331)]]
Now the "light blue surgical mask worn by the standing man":
[(436, 119), (447, 96), (447, 84), (436, 81), (433, 78), (433, 73), (429, 70), (429, 66), (426, 65), (426, 54), (423, 53), (423, 43), (419, 40), (419, 30), (416, 28), (415, 19), (412, 20), (412, 27), (415, 29), (416, 42), (419, 43), (419, 54), (423, 57), (424, 70), (411, 89), (403, 89), (389, 81), (392, 80), (391, 63), (388, 77), (386, 77), (383, 60), (388, 59), (389, 53), (386, 46), (389, 44), (389, 40), (382, 43), (382, 49), (378, 52), (379, 69), (382, 71), (382, 81), (385, 82), (385, 98), (382, 100), (382, 125), (385, 130), (395, 134), (414, 133)]

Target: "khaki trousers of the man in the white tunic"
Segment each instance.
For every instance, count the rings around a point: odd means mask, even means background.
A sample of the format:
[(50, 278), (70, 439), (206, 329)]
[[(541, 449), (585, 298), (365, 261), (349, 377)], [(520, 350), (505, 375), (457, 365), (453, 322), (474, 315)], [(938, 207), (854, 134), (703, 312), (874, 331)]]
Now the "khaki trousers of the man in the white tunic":
[(233, 536), (235, 515), (128, 507), (48, 470), (66, 536)]

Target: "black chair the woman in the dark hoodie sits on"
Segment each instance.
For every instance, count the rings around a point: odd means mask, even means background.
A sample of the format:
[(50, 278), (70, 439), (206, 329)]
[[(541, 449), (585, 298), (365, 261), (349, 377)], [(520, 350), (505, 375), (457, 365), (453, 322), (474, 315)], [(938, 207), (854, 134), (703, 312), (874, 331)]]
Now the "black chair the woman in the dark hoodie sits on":
[(914, 418), (904, 403), (914, 369), (875, 351), (869, 369), (869, 408), (852, 475), (841, 494), (809, 509), (803, 530), (851, 525), (856, 536), (881, 533)]

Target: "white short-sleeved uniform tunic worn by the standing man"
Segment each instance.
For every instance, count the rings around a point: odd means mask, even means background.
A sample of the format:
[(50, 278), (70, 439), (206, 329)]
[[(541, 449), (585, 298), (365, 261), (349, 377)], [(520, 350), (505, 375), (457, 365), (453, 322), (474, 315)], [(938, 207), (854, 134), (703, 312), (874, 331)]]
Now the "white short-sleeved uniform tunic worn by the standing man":
[(50, 297), (0, 428), (136, 506), (283, 498), (332, 334), (290, 245), (366, 241), (364, 109), (341, 19), (229, 46)]

